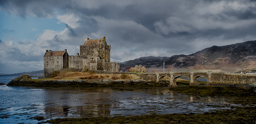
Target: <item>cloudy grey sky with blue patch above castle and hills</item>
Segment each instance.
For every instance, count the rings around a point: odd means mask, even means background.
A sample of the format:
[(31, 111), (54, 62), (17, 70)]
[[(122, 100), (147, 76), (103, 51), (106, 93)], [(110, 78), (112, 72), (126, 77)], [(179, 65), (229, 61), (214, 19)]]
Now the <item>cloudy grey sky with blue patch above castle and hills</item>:
[(46, 49), (76, 55), (102, 36), (112, 62), (252, 41), (256, 0), (1, 0), (0, 73), (43, 70)]

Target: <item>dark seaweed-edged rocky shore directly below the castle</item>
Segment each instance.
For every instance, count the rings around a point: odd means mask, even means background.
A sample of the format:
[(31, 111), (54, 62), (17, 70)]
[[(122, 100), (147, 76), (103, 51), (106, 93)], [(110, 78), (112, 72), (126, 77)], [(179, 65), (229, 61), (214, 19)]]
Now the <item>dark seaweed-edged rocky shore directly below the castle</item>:
[(7, 86), (25, 87), (168, 87), (169, 83), (146, 82), (141, 79), (121, 80), (62, 80), (62, 79), (31, 79), (28, 75), (16, 77)]

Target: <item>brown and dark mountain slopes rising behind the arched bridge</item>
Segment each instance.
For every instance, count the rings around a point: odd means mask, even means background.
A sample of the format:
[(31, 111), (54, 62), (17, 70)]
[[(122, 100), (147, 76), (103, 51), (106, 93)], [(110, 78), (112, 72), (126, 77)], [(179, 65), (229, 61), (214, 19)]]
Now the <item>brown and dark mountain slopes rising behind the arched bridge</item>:
[(190, 55), (172, 57), (140, 57), (120, 63), (120, 69), (143, 65), (146, 68), (160, 68), (172, 65), (174, 68), (219, 69), (222, 71), (244, 71), (256, 68), (256, 41), (246, 41), (225, 46), (212, 46)]

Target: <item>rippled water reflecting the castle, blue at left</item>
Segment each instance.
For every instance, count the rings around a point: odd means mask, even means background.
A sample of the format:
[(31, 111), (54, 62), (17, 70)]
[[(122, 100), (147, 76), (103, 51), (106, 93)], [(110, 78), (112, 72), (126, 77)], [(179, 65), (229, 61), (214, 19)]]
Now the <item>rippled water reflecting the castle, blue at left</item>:
[[(35, 88), (0, 85), (0, 123), (38, 123), (32, 117), (112, 117), (208, 112), (228, 98), (179, 94), (169, 88)], [(43, 120), (43, 121), (45, 121)]]

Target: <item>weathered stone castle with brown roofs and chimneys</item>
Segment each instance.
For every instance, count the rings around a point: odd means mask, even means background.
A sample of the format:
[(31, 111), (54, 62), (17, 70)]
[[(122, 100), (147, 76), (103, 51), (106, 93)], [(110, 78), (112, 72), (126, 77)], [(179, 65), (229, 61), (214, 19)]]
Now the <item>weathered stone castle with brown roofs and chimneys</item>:
[(119, 71), (119, 63), (110, 62), (111, 46), (106, 43), (106, 37), (102, 39), (84, 39), (80, 45), (80, 55), (68, 55), (64, 51), (46, 50), (44, 54), (44, 77), (49, 77), (54, 71), (63, 69)]

